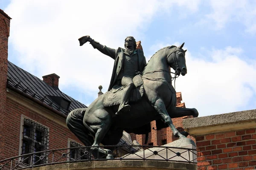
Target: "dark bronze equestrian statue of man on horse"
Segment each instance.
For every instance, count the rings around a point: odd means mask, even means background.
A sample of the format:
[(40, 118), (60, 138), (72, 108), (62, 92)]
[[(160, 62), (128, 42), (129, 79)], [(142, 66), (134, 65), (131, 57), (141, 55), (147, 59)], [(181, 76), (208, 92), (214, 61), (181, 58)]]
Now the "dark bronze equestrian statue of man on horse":
[[(123, 130), (147, 134), (153, 120), (164, 127), (159, 121), (162, 120), (176, 137), (186, 138), (175, 128), (171, 118), (197, 117), (198, 111), (176, 107), (176, 91), (169, 70), (173, 68), (177, 75), (187, 73), (184, 43), (160, 49), (146, 64), (143, 51), (135, 50), (133, 37), (125, 39), (126, 49), (117, 50), (99, 44), (90, 36), (79, 38), (80, 46), (87, 41), (115, 62), (108, 91), (88, 108), (75, 109), (67, 116), (67, 126), (85, 146), (95, 146), (96, 150), (100, 143), (115, 145), (122, 138)], [(116, 114), (120, 112), (126, 113)], [(105, 153), (105, 150), (99, 148), (99, 152)]]

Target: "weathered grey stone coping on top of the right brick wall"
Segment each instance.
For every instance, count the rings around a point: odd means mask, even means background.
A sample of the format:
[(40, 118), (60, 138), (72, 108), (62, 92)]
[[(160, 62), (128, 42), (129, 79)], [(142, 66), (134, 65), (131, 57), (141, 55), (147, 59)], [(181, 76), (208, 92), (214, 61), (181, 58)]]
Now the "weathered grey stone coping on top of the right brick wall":
[(192, 136), (256, 127), (256, 109), (183, 119), (183, 128)]

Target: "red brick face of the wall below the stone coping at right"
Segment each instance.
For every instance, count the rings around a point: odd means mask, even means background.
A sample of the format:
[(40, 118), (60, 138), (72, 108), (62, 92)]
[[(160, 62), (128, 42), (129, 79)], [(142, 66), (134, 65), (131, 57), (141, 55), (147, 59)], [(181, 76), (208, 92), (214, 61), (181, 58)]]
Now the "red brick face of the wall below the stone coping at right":
[(256, 132), (236, 130), (196, 136), (198, 170), (256, 169)]

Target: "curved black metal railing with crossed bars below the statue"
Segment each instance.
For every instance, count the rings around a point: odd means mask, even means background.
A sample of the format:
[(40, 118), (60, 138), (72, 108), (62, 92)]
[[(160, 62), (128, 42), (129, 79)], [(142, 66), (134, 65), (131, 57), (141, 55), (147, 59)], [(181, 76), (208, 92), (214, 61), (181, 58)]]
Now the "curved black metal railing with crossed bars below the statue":
[[(91, 146), (70, 147), (15, 156), (0, 161), (0, 170), (22, 170), (30, 167), (68, 162), (106, 161), (109, 160), (106, 159), (106, 156), (109, 154), (108, 149), (112, 150), (113, 160), (172, 161), (197, 164), (196, 149), (164, 146), (108, 145), (104, 146), (103, 150), (106, 153), (103, 154), (99, 153), (98, 150), (90, 151), (90, 148)], [(130, 152), (124, 153), (123, 150), (130, 150)]]

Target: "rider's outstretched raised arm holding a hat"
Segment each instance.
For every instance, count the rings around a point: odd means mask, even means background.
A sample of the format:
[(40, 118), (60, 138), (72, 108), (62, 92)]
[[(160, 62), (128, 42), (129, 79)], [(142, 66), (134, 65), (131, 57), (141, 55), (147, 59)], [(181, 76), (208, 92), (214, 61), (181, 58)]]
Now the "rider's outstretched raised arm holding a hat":
[(102, 52), (105, 55), (108, 55), (109, 57), (115, 59), (116, 57), (116, 50), (113, 48), (109, 48), (106, 45), (102, 45), (97, 41), (94, 41), (90, 36), (84, 36), (78, 39), (80, 42), (80, 46), (86, 43), (87, 41), (90, 42), (90, 44), (93, 46), (93, 48), (96, 48), (100, 52)]

